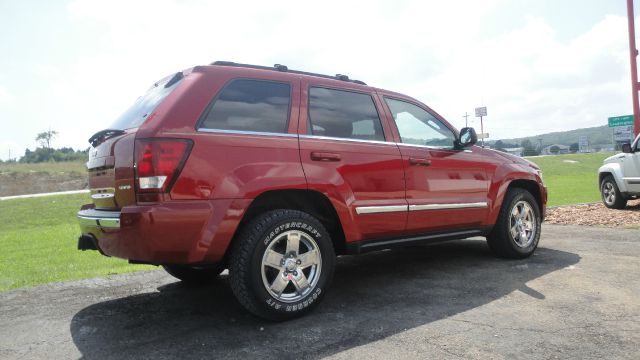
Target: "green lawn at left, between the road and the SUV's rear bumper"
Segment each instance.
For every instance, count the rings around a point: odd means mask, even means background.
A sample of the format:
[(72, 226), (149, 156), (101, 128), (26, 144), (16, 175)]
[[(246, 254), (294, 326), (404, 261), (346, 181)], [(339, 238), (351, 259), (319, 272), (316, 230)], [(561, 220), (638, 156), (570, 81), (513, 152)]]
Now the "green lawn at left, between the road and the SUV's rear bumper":
[(0, 291), (153, 269), (77, 250), (76, 212), (88, 194), (0, 201)]

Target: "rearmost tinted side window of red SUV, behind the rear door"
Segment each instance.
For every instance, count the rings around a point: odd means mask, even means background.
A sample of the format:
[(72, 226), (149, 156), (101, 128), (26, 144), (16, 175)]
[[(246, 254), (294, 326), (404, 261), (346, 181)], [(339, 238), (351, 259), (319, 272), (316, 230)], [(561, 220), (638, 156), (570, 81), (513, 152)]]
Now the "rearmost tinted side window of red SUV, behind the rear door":
[(209, 106), (200, 128), (286, 133), (291, 86), (260, 80), (234, 80)]

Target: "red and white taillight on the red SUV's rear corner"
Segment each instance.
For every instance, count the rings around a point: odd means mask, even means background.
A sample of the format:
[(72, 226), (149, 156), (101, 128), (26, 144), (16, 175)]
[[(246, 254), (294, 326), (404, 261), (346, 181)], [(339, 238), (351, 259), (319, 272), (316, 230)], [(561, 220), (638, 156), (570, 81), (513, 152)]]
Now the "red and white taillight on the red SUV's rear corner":
[(168, 192), (189, 156), (191, 144), (183, 139), (136, 140), (138, 192)]

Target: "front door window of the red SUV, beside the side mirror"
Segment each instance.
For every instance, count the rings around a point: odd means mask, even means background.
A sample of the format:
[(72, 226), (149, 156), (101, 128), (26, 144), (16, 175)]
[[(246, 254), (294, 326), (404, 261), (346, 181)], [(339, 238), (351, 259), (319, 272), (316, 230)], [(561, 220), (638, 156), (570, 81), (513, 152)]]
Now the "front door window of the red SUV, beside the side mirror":
[(452, 148), (455, 135), (433, 115), (408, 102), (385, 98), (403, 143)]

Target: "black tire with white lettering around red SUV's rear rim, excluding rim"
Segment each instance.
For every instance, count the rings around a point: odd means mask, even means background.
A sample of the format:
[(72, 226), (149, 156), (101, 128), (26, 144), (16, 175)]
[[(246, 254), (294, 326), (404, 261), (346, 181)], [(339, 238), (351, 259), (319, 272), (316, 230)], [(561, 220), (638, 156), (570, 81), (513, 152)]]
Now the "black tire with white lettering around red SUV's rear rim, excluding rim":
[[(313, 290), (297, 302), (287, 303), (274, 299), (265, 289), (262, 282), (262, 257), (269, 244), (280, 234), (289, 230), (297, 230), (306, 233), (313, 238), (320, 250), (322, 270), (320, 278)], [(276, 315), (277, 318), (290, 318), (302, 315), (310, 311), (326, 293), (326, 287), (333, 277), (335, 253), (328, 232), (315, 219), (295, 217), (282, 219), (265, 228), (258, 237), (250, 259), (249, 282), (254, 301), (262, 310)]]

